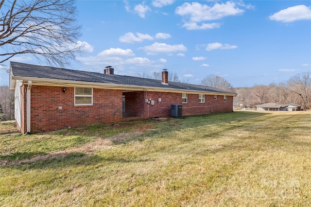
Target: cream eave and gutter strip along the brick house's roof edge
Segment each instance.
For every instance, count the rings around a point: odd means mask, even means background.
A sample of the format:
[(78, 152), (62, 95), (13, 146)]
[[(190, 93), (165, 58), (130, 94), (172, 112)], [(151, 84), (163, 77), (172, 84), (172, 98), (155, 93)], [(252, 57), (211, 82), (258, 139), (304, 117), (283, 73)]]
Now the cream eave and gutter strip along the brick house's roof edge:
[(156, 91), (156, 92), (171, 92), (171, 93), (194, 93), (194, 94), (207, 94), (207, 95), (227, 95), (235, 96), (236, 93), (225, 93), (225, 92), (212, 92), (202, 90), (191, 90), (191, 89), (176, 89), (176, 88), (163, 88), (163, 87), (151, 87), (151, 86), (135, 86), (135, 85), (123, 85), (123, 84), (111, 84), (111, 83), (98, 83), (98, 82), (86, 82), (86, 81), (72, 81), (63, 79), (48, 79), (48, 78), (37, 78), (37, 77), (24, 77), (14, 76), (10, 70), (10, 89), (15, 89), (15, 80), (22, 80), (23, 83), (28, 84), (28, 81), (32, 81), (33, 86), (67, 86), (67, 87), (93, 87), (93, 88), (104, 88), (104, 89), (115, 89), (123, 91)]

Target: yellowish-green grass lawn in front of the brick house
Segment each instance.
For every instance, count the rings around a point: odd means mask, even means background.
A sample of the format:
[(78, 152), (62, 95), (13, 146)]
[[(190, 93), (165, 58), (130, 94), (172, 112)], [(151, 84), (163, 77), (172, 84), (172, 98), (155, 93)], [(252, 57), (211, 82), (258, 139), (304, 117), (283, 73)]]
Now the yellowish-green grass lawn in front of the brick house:
[(0, 206), (311, 206), (311, 111), (1, 123)]

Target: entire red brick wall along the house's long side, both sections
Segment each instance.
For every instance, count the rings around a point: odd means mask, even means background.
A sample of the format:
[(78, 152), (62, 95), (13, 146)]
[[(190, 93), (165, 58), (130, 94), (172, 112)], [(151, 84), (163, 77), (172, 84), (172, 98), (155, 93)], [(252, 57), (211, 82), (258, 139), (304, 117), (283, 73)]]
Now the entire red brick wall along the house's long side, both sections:
[[(75, 106), (74, 87), (32, 86), (31, 132), (48, 131), (88, 124), (112, 123), (122, 119), (122, 95), (125, 95), (125, 117), (167, 117), (171, 104), (181, 104), (183, 116), (231, 112), (233, 97), (205, 95), (205, 103), (199, 103), (198, 94), (188, 94), (188, 103), (181, 103), (181, 93), (154, 91), (124, 92), (122, 90), (93, 88), (93, 105)], [(26, 90), (21, 87), (21, 132), (26, 133)], [(144, 103), (152, 99), (155, 104)], [(161, 98), (161, 102), (158, 102)], [(62, 106), (62, 110), (58, 109)]]

